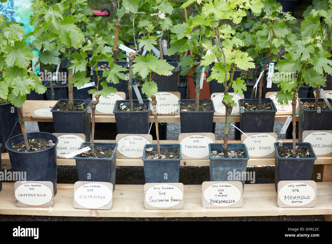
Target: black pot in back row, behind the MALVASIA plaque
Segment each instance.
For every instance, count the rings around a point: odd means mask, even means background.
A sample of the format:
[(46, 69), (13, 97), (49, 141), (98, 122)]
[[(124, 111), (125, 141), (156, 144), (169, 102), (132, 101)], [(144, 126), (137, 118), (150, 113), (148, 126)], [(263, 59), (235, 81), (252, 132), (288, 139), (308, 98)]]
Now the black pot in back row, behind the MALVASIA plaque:
[[(97, 67), (99, 65), (103, 65), (103, 64), (108, 64), (108, 61), (100, 61), (100, 62), (98, 62), (97, 63)], [(122, 66), (123, 68), (127, 69), (128, 65), (129, 65), (129, 62), (127, 62), (127, 61), (118, 61), (117, 64), (120, 65), (120, 66)], [(97, 86), (97, 82), (98, 82), (97, 72), (98, 72), (98, 77), (100, 78), (100, 80), (99, 80), (99, 90), (101, 90), (101, 89), (103, 89), (101, 83), (106, 80), (106, 77), (103, 77), (104, 69), (98, 69), (96, 71), (96, 65), (95, 65), (94, 69), (93, 69), (93, 79), (95, 81), (96, 86)], [(125, 72), (121, 71), (121, 73), (125, 73), (126, 74), (126, 73), (128, 73), (128, 71), (125, 71)], [(113, 84), (112, 82), (109, 82), (107, 85), (116, 88), (118, 92), (124, 92), (125, 95), (126, 95), (126, 98), (127, 98), (128, 97), (128, 85), (127, 84), (128, 84), (127, 80), (119, 79), (119, 83), (118, 84)]]

